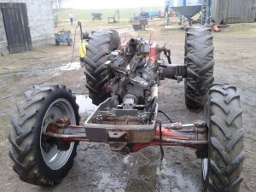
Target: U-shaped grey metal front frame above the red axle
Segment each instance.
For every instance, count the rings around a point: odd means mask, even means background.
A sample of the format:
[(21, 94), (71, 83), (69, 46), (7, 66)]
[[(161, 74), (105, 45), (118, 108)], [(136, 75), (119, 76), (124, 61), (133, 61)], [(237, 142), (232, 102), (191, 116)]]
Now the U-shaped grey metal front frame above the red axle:
[[(113, 117), (104, 112), (106, 108), (113, 108), (111, 98), (102, 102), (98, 108), (85, 121), (86, 137), (90, 140), (108, 142), (108, 131), (125, 131), (132, 143), (148, 143), (153, 140), (156, 129), (156, 116), (158, 105), (154, 109), (154, 117), (151, 124), (141, 125), (137, 119), (137, 110), (115, 110)], [(129, 112), (129, 115), (125, 115)], [(101, 122), (97, 122), (98, 113), (102, 113)], [(111, 112), (112, 113), (112, 112)]]

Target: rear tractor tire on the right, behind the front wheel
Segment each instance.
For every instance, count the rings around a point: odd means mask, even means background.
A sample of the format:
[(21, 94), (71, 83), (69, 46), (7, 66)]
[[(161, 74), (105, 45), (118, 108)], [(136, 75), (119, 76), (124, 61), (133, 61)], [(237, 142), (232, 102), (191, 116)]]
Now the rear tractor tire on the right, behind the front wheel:
[(203, 108), (213, 78), (213, 45), (211, 28), (189, 27), (185, 40), (187, 78), (185, 102), (188, 108)]

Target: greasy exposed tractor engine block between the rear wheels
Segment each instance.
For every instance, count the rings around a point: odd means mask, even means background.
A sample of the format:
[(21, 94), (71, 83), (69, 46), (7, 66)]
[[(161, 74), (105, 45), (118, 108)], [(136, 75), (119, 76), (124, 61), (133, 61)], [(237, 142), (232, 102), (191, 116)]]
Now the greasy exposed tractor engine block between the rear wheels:
[(146, 104), (154, 98), (151, 90), (158, 82), (158, 73), (150, 60), (150, 49), (148, 41), (131, 38), (126, 46), (121, 46), (121, 51), (113, 51), (109, 56), (108, 69), (113, 73), (111, 92), (126, 107)]

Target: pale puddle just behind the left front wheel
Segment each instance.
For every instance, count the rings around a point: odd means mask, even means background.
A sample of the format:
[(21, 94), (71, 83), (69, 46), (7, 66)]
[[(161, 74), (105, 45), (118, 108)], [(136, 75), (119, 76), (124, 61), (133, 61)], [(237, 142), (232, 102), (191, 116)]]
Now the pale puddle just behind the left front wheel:
[(92, 113), (96, 109), (96, 105), (92, 104), (88, 95), (75, 95), (76, 102), (79, 105), (79, 113)]

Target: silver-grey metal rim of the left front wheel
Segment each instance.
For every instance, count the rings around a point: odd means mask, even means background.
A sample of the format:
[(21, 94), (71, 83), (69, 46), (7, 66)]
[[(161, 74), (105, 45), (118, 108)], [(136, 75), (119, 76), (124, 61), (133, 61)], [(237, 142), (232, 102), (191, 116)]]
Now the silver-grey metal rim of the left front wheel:
[[(54, 114), (54, 115), (53, 115)], [(46, 131), (46, 127), (49, 123), (56, 122), (61, 116), (67, 116), (70, 119), (72, 125), (76, 125), (76, 117), (72, 105), (66, 99), (57, 99), (53, 102), (47, 112), (44, 115), (41, 137), (40, 137), (40, 149), (44, 162), (52, 170), (58, 170), (62, 166), (65, 166), (67, 160), (73, 152), (74, 143), (70, 143), (70, 147), (67, 151), (60, 151), (55, 144), (51, 145), (46, 152), (42, 146), (42, 135)]]

